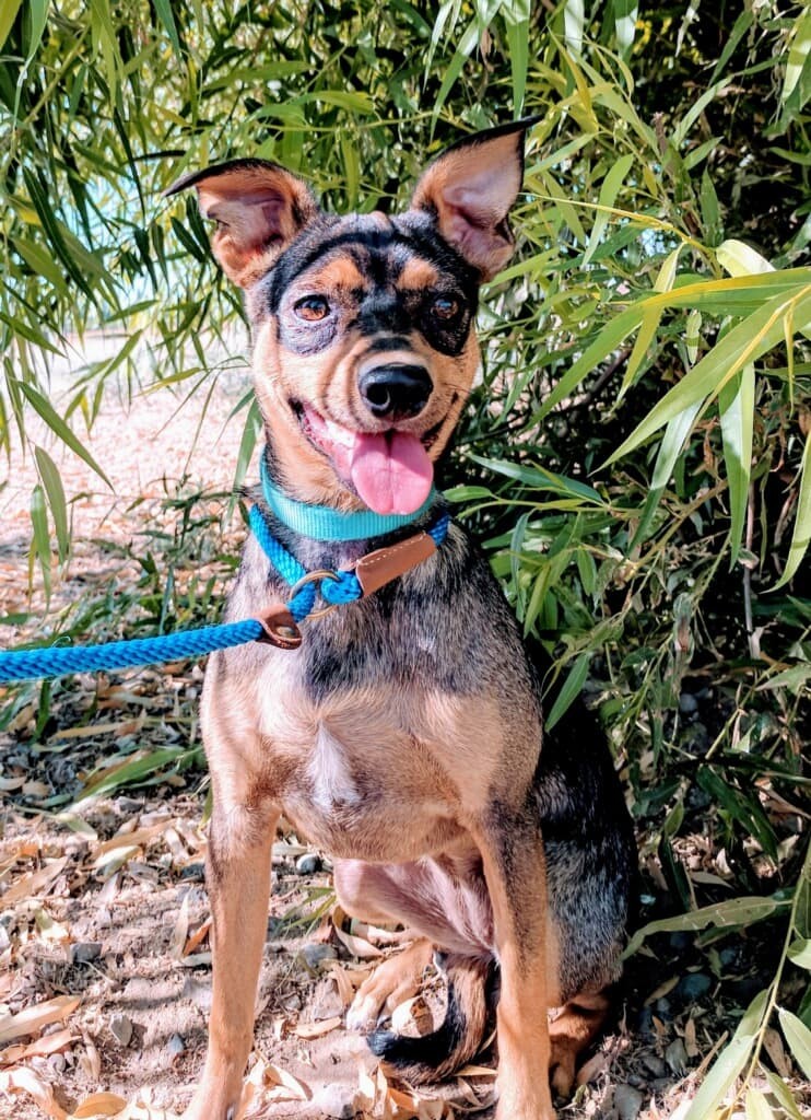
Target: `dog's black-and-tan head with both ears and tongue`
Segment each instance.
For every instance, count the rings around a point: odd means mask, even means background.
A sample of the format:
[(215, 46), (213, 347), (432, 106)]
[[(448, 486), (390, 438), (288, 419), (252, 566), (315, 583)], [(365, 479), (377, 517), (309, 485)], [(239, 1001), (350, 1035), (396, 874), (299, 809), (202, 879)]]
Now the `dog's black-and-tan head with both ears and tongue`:
[(245, 290), (256, 393), (296, 497), (378, 513), (427, 497), (479, 363), (479, 286), (512, 252), (531, 123), (447, 149), (394, 217), (324, 214), (301, 179), (256, 159), (170, 187), (197, 188), (214, 253)]

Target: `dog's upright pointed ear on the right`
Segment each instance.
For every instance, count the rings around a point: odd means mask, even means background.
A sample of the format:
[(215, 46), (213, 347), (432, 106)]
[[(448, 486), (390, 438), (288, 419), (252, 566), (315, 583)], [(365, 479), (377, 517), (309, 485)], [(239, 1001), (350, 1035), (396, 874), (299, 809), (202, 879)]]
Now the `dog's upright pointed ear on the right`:
[(507, 214), (524, 181), (524, 142), (539, 116), (465, 137), (417, 183), (414, 209), (435, 216), (442, 236), (490, 280), (512, 255)]

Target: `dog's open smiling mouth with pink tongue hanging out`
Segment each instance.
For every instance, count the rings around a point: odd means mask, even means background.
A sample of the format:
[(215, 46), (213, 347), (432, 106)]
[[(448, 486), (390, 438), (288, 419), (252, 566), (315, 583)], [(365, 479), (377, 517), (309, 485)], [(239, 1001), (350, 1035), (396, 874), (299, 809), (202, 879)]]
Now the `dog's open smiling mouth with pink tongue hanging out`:
[(444, 418), (422, 436), (397, 428), (366, 432), (345, 428), (300, 401), (291, 407), (308, 439), (375, 513), (414, 513), (425, 502), (434, 480), (428, 450)]

